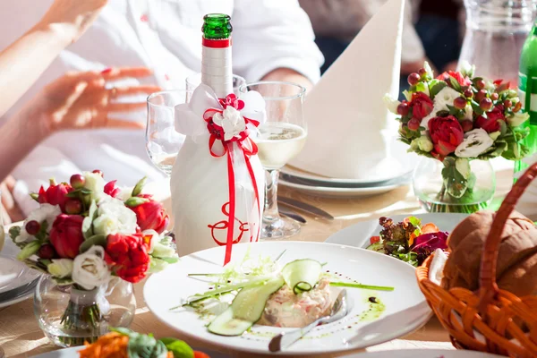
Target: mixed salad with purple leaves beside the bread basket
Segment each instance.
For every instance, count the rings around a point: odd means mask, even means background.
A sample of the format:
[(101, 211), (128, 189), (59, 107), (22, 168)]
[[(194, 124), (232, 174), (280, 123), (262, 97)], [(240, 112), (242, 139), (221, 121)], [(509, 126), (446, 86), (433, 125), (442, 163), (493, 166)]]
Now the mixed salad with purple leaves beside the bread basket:
[(382, 230), (372, 236), (368, 250), (385, 253), (418, 267), (437, 249), (447, 249), (447, 233), (433, 223), (422, 225), (418, 217), (405, 217), (400, 223), (380, 217)]

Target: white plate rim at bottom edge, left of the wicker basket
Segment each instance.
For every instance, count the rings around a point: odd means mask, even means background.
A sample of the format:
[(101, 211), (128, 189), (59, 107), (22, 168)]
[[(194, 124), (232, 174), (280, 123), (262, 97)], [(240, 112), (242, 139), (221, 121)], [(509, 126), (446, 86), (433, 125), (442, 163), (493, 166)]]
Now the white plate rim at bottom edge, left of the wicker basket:
[(405, 349), (345, 355), (345, 358), (500, 358), (500, 355), (473, 351), (440, 349)]

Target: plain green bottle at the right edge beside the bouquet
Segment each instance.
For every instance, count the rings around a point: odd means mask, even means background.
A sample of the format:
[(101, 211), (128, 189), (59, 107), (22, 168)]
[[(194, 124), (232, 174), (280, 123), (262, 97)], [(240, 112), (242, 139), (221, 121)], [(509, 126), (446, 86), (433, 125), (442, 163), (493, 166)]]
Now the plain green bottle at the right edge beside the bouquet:
[(526, 158), (515, 162), (515, 180), (524, 170), (537, 162), (537, 22), (524, 42), (520, 55), (518, 90), (522, 108), (530, 114), (524, 125), (530, 128), (524, 144), (529, 149)]

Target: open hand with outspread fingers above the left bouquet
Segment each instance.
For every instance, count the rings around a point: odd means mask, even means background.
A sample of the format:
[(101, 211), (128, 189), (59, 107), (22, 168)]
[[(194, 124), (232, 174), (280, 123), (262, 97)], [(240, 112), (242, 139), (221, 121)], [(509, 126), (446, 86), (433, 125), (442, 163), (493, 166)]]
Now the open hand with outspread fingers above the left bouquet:
[(34, 99), (43, 135), (67, 129), (141, 129), (144, 124), (110, 118), (146, 107), (146, 102), (115, 103), (116, 98), (160, 90), (154, 85), (105, 88), (107, 81), (142, 78), (151, 74), (146, 67), (124, 67), (103, 72), (68, 72), (45, 87)]

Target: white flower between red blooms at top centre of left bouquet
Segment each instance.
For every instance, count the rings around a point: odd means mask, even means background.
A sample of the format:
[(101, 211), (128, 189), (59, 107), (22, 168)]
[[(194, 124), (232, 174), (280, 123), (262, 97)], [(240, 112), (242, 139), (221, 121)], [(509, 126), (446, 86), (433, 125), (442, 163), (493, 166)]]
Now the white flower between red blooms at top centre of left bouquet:
[(93, 220), (95, 234), (134, 234), (136, 214), (125, 207), (124, 202), (107, 196), (98, 202), (98, 217)]

